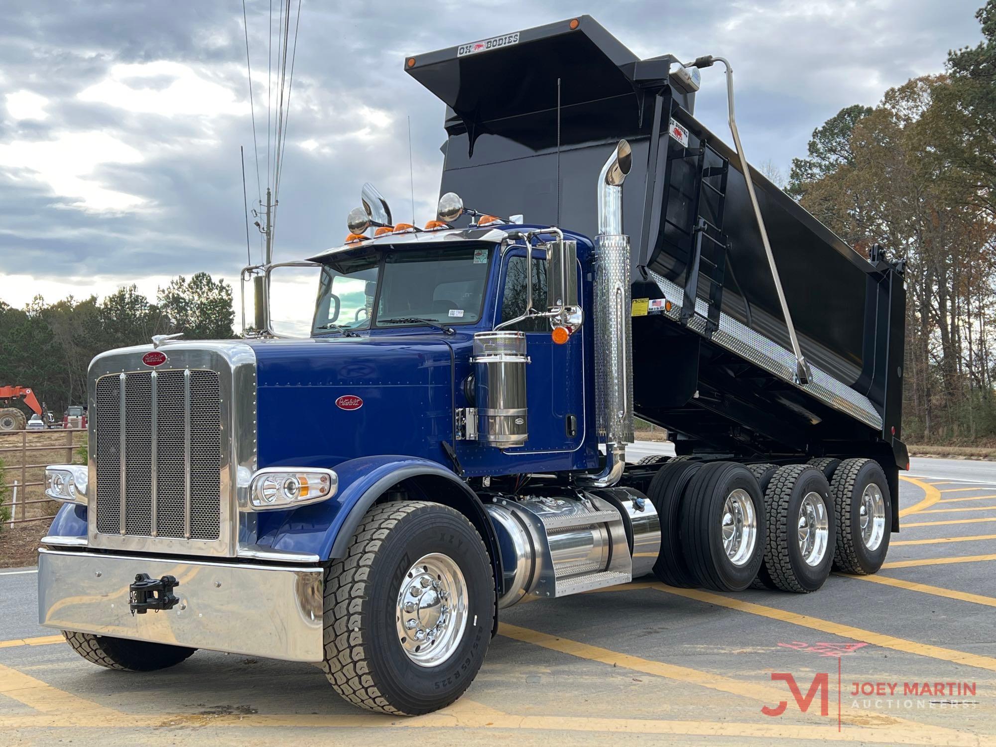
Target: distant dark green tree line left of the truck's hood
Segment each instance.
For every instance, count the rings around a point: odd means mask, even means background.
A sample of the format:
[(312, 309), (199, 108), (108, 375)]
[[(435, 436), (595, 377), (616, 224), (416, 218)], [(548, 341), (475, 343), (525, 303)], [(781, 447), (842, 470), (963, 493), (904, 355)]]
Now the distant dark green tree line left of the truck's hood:
[(146, 345), (152, 335), (182, 332), (188, 340), (234, 338), (232, 287), (204, 272), (178, 276), (150, 302), (131, 285), (99, 300), (72, 296), (23, 309), (0, 300), (0, 384), (30, 386), (58, 419), (86, 404), (87, 369), (99, 353)]

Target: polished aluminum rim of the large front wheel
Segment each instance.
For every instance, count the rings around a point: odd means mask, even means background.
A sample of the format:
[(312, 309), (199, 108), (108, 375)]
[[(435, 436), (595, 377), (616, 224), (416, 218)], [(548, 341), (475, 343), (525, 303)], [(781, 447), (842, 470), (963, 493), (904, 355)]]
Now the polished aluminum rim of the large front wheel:
[(409, 659), (438, 666), (456, 651), (467, 625), (467, 584), (460, 567), (442, 553), (423, 555), (408, 569), (397, 593), (397, 639)]

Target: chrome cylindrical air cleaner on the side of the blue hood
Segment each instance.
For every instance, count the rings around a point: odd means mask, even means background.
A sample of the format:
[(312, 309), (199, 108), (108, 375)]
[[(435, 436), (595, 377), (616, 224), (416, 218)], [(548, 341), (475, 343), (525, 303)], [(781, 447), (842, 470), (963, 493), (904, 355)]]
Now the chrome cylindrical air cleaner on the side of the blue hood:
[(474, 335), (474, 401), (477, 440), (498, 448), (521, 446), (529, 437), (526, 405), (526, 335)]

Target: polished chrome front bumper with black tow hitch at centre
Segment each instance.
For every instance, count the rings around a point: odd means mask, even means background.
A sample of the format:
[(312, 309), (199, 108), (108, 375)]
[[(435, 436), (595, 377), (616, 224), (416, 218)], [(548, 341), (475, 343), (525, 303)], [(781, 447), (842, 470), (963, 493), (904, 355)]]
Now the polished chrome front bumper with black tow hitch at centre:
[[(172, 576), (179, 603), (132, 615), (136, 574)], [(323, 570), (42, 549), (38, 622), (155, 643), (321, 661)]]

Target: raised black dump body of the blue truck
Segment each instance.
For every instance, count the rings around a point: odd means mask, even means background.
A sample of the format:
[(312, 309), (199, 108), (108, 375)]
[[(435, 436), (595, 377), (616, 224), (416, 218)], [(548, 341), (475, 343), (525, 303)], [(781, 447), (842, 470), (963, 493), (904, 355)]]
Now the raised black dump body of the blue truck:
[[(671, 62), (639, 60), (582, 16), (416, 55), (405, 70), (447, 105), (441, 192), (491, 214), (594, 236), (599, 170), (624, 137), (633, 150), (622, 189), (633, 298), (662, 298), (661, 278), (689, 287), (703, 233), (701, 256), (717, 259), (720, 271), (699, 262), (699, 303), (708, 309), (716, 285), (714, 314), (721, 309), (725, 323), (791, 349), (735, 152), (693, 118), (694, 94), (669, 76)], [(720, 67), (702, 78), (703, 86), (724, 85)], [(687, 130), (687, 144), (669, 135), (672, 120)], [(636, 412), (675, 431), (679, 451), (868, 454), (894, 474), (906, 458), (897, 440), (901, 274), (751, 173), (803, 352), (847, 397), (868, 402), (870, 414), (856, 417), (835, 396), (814, 396), (737, 355), (736, 341), (718, 344), (711, 330), (652, 314), (633, 318)]]

